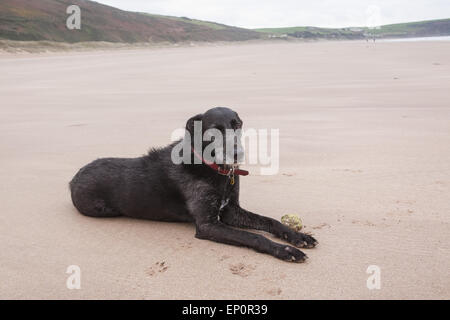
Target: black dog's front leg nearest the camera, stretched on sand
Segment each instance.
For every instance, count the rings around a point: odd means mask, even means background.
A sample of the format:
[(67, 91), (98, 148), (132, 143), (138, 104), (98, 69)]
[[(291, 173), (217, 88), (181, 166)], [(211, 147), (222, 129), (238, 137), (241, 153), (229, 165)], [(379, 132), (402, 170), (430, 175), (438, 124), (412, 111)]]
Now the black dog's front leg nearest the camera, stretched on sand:
[(259, 234), (230, 228), (220, 221), (198, 224), (195, 236), (199, 239), (249, 247), (285, 261), (303, 262), (307, 258), (294, 247), (273, 242)]

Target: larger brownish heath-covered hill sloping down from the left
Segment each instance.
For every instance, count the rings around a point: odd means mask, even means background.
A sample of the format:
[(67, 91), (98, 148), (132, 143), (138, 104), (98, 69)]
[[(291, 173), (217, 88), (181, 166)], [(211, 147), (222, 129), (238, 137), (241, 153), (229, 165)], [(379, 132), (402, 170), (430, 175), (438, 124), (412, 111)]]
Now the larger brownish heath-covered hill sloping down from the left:
[[(66, 8), (81, 9), (81, 30), (66, 28)], [(128, 12), (88, 0), (0, 0), (0, 38), (61, 42), (239, 41), (253, 30), (189, 18)]]

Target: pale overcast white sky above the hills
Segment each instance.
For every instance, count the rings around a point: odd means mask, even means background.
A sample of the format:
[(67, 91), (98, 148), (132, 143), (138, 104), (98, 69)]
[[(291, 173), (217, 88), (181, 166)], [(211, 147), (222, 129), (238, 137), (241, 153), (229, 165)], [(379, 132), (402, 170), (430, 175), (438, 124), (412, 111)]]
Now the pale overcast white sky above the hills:
[(450, 18), (450, 0), (96, 0), (244, 28), (358, 27)]

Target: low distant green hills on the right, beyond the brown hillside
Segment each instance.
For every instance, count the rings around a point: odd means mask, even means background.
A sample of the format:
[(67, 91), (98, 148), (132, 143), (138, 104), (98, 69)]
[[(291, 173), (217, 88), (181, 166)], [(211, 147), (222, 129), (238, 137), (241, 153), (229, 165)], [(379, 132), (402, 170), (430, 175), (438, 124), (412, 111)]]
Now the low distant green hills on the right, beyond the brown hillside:
[(450, 19), (389, 24), (381, 26), (379, 29), (291, 27), (255, 30), (274, 37), (287, 36), (304, 39), (363, 39), (366, 36), (377, 38), (431, 37), (450, 35)]

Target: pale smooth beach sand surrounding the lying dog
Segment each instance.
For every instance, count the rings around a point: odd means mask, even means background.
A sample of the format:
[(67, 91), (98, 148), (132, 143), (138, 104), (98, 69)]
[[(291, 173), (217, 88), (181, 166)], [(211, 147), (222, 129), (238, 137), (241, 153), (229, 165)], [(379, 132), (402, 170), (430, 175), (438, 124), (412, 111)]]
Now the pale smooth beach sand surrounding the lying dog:
[[(450, 42), (9, 55), (0, 71), (0, 298), (450, 298)], [(300, 214), (320, 241), (307, 263), (73, 208), (78, 168), (217, 105), (280, 129), (279, 174), (253, 168), (241, 202)]]

